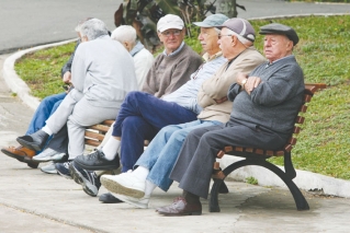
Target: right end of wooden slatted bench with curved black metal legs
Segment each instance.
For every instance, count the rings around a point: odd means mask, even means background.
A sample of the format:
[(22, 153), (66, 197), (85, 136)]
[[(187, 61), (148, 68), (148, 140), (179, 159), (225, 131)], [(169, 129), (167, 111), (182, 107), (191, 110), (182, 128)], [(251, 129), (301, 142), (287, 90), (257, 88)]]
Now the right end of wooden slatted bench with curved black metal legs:
[[(303, 105), (300, 108), (300, 114), (306, 113), (307, 103), (312, 101), (312, 97), (315, 94), (315, 92), (325, 88), (326, 88), (326, 84), (305, 84), (304, 101), (303, 101)], [(224, 183), (225, 177), (227, 177), (235, 170), (242, 166), (248, 166), (248, 165), (263, 166), (270, 170), (271, 172), (273, 172), (274, 174), (276, 174), (285, 183), (285, 185), (289, 187), (290, 191), (292, 193), (297, 210), (308, 210), (309, 207), (305, 197), (303, 196), (301, 190), (292, 180), (296, 176), (296, 172), (294, 170), (292, 158), (291, 158), (291, 151), (296, 143), (296, 138), (294, 138), (293, 136), (297, 135), (301, 131), (300, 125), (303, 124), (304, 120), (305, 120), (305, 117), (301, 115), (298, 115), (295, 118), (293, 133), (282, 150), (270, 151), (270, 150), (262, 150), (257, 148), (242, 148), (242, 147), (227, 145), (222, 151), (219, 151), (217, 154), (217, 158), (219, 159), (223, 158), (224, 154), (228, 154), (228, 155), (241, 156), (241, 158), (245, 158), (245, 160), (234, 162), (233, 164), (228, 165), (223, 171), (219, 168), (218, 162), (214, 163), (214, 172), (213, 172), (214, 184), (211, 189), (210, 212), (221, 211), (217, 199), (218, 199), (218, 193), (225, 193), (222, 190), (227, 189)], [(276, 165), (267, 161), (267, 159), (272, 156), (284, 158), (284, 171), (282, 171)]]

